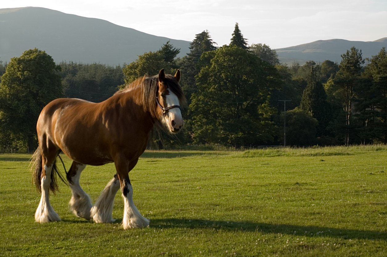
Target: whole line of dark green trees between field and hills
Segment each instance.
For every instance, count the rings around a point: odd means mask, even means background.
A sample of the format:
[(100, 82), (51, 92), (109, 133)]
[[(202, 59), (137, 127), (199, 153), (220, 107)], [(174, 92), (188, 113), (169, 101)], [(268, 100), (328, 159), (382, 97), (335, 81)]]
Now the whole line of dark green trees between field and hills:
[[(58, 97), (100, 102), (126, 83), (161, 68), (182, 71), (187, 97), (182, 133), (154, 133), (152, 147), (221, 145), (351, 145), (387, 141), (387, 53), (367, 60), (351, 48), (341, 62), (279, 63), (266, 44), (248, 45), (238, 23), (229, 45), (218, 47), (209, 31), (195, 36), (190, 52), (166, 42), (121, 66), (55, 64), (39, 49), (0, 61), (0, 149), (36, 147), (41, 109)], [(286, 115), (284, 115), (284, 100)]]

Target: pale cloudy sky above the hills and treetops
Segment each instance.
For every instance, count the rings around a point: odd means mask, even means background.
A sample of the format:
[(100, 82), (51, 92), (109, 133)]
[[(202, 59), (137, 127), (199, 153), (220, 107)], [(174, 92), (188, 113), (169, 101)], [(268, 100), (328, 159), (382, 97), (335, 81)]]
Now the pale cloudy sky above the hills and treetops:
[(238, 22), (248, 44), (272, 49), (317, 40), (375, 41), (387, 37), (386, 0), (12, 0), (0, 9), (45, 7), (108, 20), (148, 34), (192, 41), (208, 30), (229, 44)]

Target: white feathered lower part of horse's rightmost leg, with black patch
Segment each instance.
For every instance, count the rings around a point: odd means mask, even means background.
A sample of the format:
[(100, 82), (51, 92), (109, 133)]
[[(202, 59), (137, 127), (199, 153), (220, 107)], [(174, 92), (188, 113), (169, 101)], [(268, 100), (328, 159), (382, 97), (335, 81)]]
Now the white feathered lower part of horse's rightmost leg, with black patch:
[[(130, 183), (126, 183), (127, 190), (123, 190), (124, 211), (122, 225), (127, 228), (143, 228), (149, 225), (149, 220), (144, 218), (133, 203), (133, 188)], [(127, 191), (126, 196), (124, 192)]]

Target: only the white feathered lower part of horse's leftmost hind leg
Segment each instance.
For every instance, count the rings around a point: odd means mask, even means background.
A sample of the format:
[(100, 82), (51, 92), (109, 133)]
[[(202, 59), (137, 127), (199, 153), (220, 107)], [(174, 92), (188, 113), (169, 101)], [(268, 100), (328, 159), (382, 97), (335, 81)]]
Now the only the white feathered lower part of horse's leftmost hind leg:
[(39, 223), (45, 223), (50, 221), (60, 221), (59, 215), (54, 211), (50, 204), (50, 183), (51, 183), (51, 171), (52, 165), (47, 167), (45, 165), (45, 176), (41, 179), (41, 191), (42, 195), (38, 209), (35, 212), (35, 221)]

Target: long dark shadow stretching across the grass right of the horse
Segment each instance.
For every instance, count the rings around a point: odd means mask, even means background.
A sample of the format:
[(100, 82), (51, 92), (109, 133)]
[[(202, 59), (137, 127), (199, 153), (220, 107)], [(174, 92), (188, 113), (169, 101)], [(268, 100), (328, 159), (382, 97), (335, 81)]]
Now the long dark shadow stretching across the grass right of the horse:
[(387, 232), (354, 230), (322, 226), (300, 226), (288, 224), (254, 223), (250, 221), (186, 220), (178, 218), (151, 219), (151, 228), (201, 228), (224, 231), (247, 231), (281, 233), (303, 237), (332, 237), (342, 239), (370, 239), (387, 241)]

